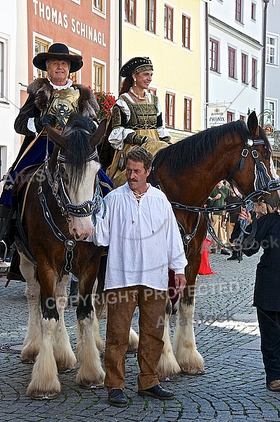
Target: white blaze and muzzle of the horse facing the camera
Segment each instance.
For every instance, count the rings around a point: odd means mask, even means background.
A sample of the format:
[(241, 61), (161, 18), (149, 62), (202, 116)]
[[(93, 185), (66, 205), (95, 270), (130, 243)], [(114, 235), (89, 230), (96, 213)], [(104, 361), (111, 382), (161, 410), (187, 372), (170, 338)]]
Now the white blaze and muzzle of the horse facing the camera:
[[(84, 177), (84, 181), (79, 184), (77, 189), (69, 186), (68, 193), (72, 204), (78, 205), (82, 204), (86, 200), (92, 200), (94, 197), (94, 182), (99, 168), (100, 165), (98, 162), (94, 160), (87, 162), (87, 174), (86, 177)], [(74, 215), (69, 215), (69, 231), (76, 241), (85, 241), (89, 236), (91, 236), (94, 230), (91, 217), (91, 215), (88, 217), (75, 217)]]

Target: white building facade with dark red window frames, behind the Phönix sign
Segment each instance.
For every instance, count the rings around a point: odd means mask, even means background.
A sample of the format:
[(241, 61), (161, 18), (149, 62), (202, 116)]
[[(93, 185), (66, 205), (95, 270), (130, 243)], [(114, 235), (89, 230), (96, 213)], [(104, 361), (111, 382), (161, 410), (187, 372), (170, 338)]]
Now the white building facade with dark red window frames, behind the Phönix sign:
[(208, 1), (207, 127), (260, 114), (262, 16), (262, 0)]

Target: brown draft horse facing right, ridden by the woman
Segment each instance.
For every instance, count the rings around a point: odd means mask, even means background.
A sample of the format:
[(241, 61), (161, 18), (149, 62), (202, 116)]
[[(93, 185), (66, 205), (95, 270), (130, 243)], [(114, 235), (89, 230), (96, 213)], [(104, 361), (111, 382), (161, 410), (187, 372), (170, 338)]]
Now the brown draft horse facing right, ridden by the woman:
[[(243, 196), (258, 189), (267, 191), (269, 181), (279, 188), (269, 141), (258, 125), (255, 112), (248, 116), (247, 125), (238, 120), (206, 129), (160, 150), (153, 161), (153, 174), (151, 183), (158, 185), (171, 203), (193, 207), (203, 207), (212, 189), (222, 179), (234, 181)], [(264, 192), (263, 196), (272, 207), (278, 205), (276, 190)], [(201, 262), (201, 244), (207, 229), (203, 215), (198, 223), (197, 212), (174, 208), (174, 213), (186, 234), (195, 236), (187, 252), (187, 286), (179, 301), (174, 354), (168, 330), (165, 330), (165, 347), (158, 365), (161, 379), (172, 377), (179, 371), (190, 374), (204, 372), (203, 358), (196, 350), (193, 313), (194, 286)]]

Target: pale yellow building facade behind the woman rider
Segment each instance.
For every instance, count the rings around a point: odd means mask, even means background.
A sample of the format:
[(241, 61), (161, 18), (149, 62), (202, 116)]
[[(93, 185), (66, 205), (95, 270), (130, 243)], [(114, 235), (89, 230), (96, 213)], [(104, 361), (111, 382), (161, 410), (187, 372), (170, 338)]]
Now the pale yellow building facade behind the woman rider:
[(124, 1), (122, 63), (148, 56), (151, 90), (175, 139), (202, 129), (201, 0)]

